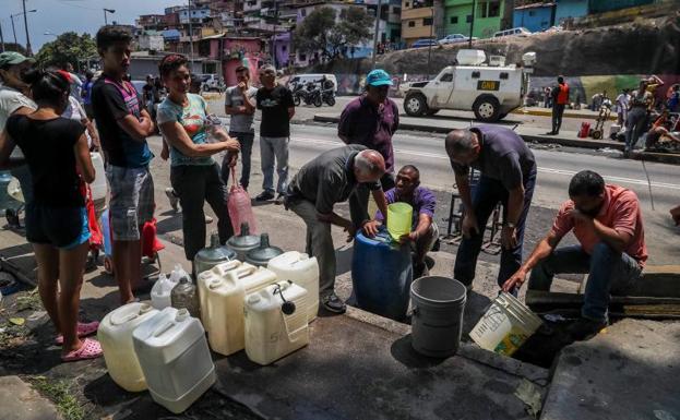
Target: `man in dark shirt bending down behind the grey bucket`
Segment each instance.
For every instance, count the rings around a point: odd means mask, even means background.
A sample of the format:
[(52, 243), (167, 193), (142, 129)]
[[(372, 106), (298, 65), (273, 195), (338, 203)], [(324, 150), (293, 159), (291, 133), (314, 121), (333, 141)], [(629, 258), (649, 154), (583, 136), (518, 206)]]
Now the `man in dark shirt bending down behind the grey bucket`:
[[(465, 206), (463, 240), (453, 276), (472, 289), (484, 231), (500, 202), (503, 204), (503, 229), (498, 285), (502, 287), (522, 265), (524, 224), (536, 184), (534, 154), (517, 133), (497, 125), (453, 130), (446, 135), (445, 144)], [(470, 167), (481, 172), (474, 194), (469, 185)], [(516, 293), (515, 289), (510, 291)]]

